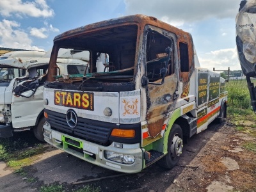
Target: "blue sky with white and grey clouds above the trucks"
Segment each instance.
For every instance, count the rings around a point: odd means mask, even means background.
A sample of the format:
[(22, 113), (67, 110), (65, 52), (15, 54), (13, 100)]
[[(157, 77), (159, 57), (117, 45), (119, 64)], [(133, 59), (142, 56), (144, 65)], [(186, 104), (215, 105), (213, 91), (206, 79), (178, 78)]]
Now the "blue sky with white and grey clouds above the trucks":
[(0, 47), (48, 51), (54, 36), (136, 13), (157, 17), (193, 36), (200, 65), (241, 69), (236, 52), (240, 0), (1, 0)]

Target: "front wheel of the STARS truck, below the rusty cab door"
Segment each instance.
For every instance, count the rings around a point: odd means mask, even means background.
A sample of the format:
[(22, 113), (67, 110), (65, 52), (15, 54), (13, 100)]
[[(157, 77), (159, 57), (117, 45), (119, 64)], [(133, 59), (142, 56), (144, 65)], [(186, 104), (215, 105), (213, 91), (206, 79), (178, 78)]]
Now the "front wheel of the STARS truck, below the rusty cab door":
[(159, 165), (172, 169), (179, 163), (183, 148), (183, 134), (180, 125), (173, 124), (168, 137), (168, 153), (159, 160)]

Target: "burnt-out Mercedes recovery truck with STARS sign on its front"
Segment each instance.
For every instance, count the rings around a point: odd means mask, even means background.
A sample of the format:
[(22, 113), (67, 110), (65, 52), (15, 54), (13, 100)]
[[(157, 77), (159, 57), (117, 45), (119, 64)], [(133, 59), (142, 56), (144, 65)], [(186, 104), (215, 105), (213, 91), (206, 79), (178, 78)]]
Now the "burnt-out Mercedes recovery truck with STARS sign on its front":
[[(89, 51), (90, 73), (56, 77), (61, 48)], [(44, 100), (47, 143), (126, 173), (173, 168), (184, 141), (227, 115), (225, 79), (200, 67), (191, 35), (145, 15), (56, 36)]]

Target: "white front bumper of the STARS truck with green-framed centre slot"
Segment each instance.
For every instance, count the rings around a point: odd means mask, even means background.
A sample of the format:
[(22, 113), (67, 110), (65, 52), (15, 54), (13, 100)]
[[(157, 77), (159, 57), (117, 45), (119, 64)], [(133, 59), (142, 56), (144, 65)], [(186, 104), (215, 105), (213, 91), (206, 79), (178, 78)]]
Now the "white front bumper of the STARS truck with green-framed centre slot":
[[(80, 138), (74, 138), (67, 134), (57, 132), (51, 129), (49, 123), (44, 124), (44, 140), (53, 145), (56, 148), (79, 157), (84, 161), (88, 161), (92, 164), (114, 170), (116, 172), (124, 173), (137, 173), (143, 169), (143, 149), (140, 148), (140, 143), (137, 144), (125, 144), (122, 143), (123, 148), (114, 147), (114, 142), (108, 147), (97, 145), (89, 141), (82, 140)], [(135, 161), (132, 164), (117, 163), (104, 157), (104, 151), (108, 150), (120, 154), (127, 154), (135, 157)]]

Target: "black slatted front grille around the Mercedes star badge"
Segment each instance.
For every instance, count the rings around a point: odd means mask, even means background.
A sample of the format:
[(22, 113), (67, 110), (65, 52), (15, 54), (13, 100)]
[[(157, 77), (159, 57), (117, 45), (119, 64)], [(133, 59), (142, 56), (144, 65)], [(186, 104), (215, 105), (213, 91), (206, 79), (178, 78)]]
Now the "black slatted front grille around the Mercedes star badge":
[(45, 112), (48, 115), (47, 121), (51, 124), (52, 129), (95, 143), (107, 143), (113, 127), (116, 127), (116, 124), (77, 117), (77, 125), (72, 128), (67, 124), (66, 114), (46, 109)]

